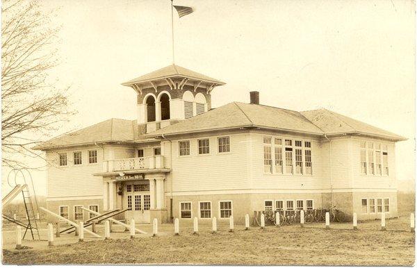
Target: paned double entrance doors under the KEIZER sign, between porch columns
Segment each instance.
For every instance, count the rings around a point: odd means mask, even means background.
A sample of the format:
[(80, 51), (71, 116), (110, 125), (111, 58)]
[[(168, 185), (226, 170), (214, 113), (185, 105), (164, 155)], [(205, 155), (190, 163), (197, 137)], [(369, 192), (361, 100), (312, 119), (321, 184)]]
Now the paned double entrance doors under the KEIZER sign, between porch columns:
[(149, 184), (126, 184), (126, 212), (127, 219), (135, 219), (135, 222), (150, 223), (149, 209), (151, 208), (151, 196)]

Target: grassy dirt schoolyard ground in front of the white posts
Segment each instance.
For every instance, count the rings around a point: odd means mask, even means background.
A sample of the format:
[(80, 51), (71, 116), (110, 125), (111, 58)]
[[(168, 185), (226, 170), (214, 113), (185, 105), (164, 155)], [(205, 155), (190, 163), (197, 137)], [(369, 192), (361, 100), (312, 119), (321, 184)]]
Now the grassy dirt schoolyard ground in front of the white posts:
[[(117, 226), (111, 240), (89, 237), (77, 242), (74, 235), (61, 235), (47, 246), (46, 241), (23, 245), (33, 249), (15, 250), (15, 232), (3, 231), (3, 264), (195, 264), (195, 265), (414, 265), (414, 233), (409, 231), (409, 218), (389, 219), (387, 231), (380, 231), (380, 221), (332, 224), (325, 230), (322, 223), (302, 228), (267, 226), (265, 230), (236, 226), (219, 226), (211, 234), (211, 226), (199, 226), (193, 235), (192, 226), (180, 226), (180, 235), (173, 235), (173, 226), (159, 226), (152, 237), (152, 226), (141, 225), (148, 233), (131, 240), (129, 232)], [(98, 233), (102, 234), (102, 226)], [(44, 230), (42, 231), (42, 236)], [(46, 236), (44, 236), (46, 237)], [(72, 244), (69, 244), (72, 243)]]

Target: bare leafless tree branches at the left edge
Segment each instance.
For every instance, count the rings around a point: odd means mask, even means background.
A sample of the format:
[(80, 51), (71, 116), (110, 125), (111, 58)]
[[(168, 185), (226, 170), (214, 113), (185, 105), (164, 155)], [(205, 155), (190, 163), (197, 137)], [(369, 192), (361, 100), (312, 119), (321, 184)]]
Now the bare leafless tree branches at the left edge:
[(57, 63), (59, 27), (37, 0), (3, 0), (1, 13), (3, 166), (28, 167), (22, 159), (41, 156), (31, 147), (72, 114), (68, 88), (56, 87), (49, 77)]

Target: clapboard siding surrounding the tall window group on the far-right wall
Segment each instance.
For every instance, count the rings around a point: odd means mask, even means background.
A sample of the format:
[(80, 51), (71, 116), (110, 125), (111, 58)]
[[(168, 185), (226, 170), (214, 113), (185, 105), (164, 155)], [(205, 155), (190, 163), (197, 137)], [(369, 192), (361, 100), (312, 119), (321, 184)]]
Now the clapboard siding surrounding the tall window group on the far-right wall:
[[(361, 141), (386, 144), (388, 146), (389, 176), (361, 175)], [(396, 189), (395, 180), (395, 143), (372, 138), (352, 138), (352, 170), (355, 188), (389, 188)]]

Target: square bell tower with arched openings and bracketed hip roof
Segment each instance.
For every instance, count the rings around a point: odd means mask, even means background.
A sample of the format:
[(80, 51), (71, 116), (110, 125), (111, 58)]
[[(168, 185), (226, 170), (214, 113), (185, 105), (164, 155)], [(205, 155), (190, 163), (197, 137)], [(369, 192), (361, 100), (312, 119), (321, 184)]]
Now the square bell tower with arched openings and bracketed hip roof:
[(122, 85), (137, 93), (139, 134), (145, 134), (210, 110), (212, 90), (225, 83), (169, 65)]

